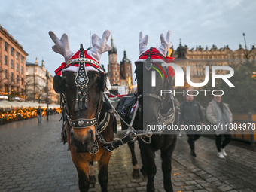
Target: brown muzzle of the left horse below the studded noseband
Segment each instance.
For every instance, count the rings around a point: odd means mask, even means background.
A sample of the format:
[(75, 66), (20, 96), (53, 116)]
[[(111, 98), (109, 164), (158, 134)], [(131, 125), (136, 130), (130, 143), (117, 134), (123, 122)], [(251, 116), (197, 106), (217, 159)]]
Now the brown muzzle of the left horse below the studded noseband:
[(94, 126), (83, 130), (74, 128), (71, 130), (71, 144), (75, 148), (76, 153), (87, 153), (91, 150), (95, 140), (95, 133), (93, 133), (93, 130)]

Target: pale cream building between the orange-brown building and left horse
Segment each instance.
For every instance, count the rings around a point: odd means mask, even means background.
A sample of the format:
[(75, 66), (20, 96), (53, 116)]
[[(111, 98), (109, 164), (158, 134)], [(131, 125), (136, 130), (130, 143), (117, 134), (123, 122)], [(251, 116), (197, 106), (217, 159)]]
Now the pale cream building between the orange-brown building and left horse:
[(59, 95), (53, 90), (53, 76), (45, 69), (44, 60), (41, 66), (37, 59), (35, 63), (26, 62), (26, 100), (47, 103), (47, 90), (48, 104), (59, 103)]

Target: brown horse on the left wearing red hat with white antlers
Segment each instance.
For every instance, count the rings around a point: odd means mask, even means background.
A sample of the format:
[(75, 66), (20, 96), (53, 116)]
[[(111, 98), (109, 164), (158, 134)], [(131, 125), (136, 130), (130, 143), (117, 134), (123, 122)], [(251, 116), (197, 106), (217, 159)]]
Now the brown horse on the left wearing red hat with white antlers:
[[(78, 172), (80, 191), (88, 191), (90, 186), (89, 163), (98, 161), (99, 184), (102, 191), (108, 191), (108, 162), (111, 152), (102, 144), (114, 139), (114, 116), (102, 112), (105, 74), (99, 59), (102, 53), (111, 50), (107, 44), (110, 32), (105, 31), (102, 39), (93, 35), (93, 47), (90, 50), (81, 49), (77, 53), (69, 50), (69, 38), (62, 38), (49, 32), (50, 38), (56, 44), (53, 50), (65, 57), (64, 63), (56, 70), (53, 87), (62, 96), (62, 118), (64, 133), (72, 154), (72, 160)], [(61, 75), (61, 76), (60, 76)], [(99, 127), (99, 116), (109, 114), (108, 124)], [(97, 130), (97, 128), (100, 130)], [(100, 134), (99, 134), (100, 133)], [(99, 136), (100, 135), (100, 136)]]

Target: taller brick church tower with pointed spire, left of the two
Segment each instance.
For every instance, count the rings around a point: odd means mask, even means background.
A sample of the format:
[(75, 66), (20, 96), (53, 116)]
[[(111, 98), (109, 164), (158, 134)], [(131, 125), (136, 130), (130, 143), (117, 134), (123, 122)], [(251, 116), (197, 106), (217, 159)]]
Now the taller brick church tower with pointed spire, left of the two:
[(112, 49), (108, 51), (108, 78), (111, 85), (120, 85), (120, 66), (117, 62), (117, 48), (114, 47), (113, 38), (111, 38)]

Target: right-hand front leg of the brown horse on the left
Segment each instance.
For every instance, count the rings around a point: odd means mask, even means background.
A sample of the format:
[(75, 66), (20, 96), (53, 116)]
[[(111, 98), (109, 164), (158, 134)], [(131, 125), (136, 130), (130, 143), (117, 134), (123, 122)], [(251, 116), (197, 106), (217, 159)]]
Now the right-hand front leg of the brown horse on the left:
[(99, 184), (102, 188), (102, 192), (108, 191), (108, 163), (111, 157), (111, 153), (105, 151), (102, 155), (101, 159), (98, 161), (98, 168), (99, 168)]

